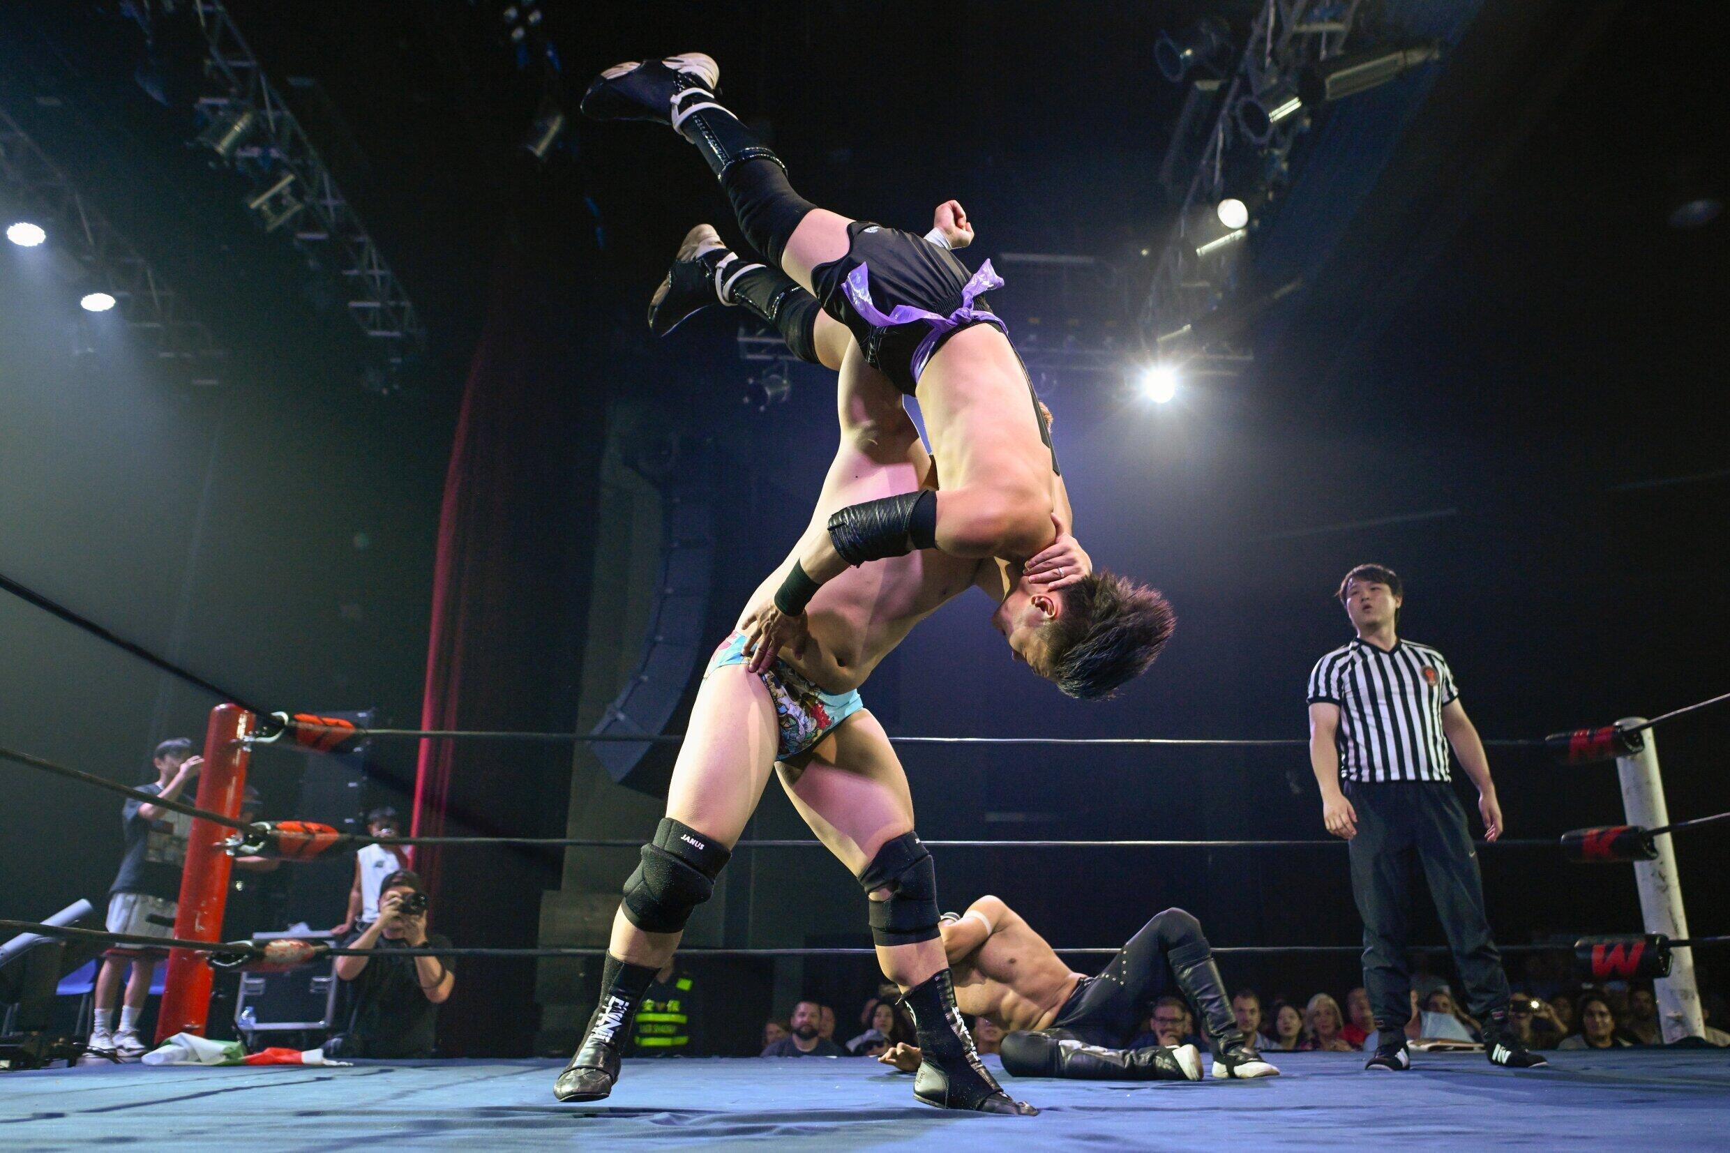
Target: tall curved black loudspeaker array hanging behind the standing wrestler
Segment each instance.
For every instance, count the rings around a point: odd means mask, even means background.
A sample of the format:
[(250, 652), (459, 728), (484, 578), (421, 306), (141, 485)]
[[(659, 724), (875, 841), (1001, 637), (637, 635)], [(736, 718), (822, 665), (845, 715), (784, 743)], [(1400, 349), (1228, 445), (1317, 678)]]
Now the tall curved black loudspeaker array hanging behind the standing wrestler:
[[(687, 446), (676, 475), (661, 486), (661, 574), (644, 655), (592, 729), (597, 736), (666, 731), (673, 717), (689, 710), (709, 655), (704, 633), (714, 591), (714, 449), (708, 444)], [(618, 742), (592, 748), (614, 781), (652, 795), (666, 793), (676, 754), (673, 745)]]

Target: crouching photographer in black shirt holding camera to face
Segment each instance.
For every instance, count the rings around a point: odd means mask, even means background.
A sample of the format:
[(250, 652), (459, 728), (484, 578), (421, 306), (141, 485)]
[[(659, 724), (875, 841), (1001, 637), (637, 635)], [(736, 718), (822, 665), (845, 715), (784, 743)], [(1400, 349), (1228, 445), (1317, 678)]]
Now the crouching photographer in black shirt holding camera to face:
[[(450, 937), (429, 933), (420, 878), (398, 870), (379, 885), (379, 920), (346, 942), (349, 949), (448, 949)], [(337, 958), (336, 975), (355, 991), (355, 1015), (343, 1056), (432, 1056), (438, 1006), (457, 984), (450, 958)]]

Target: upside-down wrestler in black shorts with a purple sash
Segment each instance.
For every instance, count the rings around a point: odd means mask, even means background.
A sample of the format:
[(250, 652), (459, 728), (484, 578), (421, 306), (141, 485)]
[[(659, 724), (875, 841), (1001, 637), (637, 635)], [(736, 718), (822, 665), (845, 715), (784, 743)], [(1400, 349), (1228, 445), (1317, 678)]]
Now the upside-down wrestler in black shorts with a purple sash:
[[(932, 451), (943, 460), (941, 491), (886, 493), (837, 508), (843, 531), (810, 538), (778, 588), (763, 591), (753, 608), (763, 645), (751, 666), (761, 672), (775, 652), (801, 640), (817, 589), (849, 565), (920, 548), (1026, 560), (1052, 543), (1054, 513), (1067, 500), (1026, 368), (1003, 322), (979, 299), (1002, 285), (990, 263), (969, 275), (922, 237), (804, 201), (780, 159), (716, 102), (718, 83), (720, 67), (702, 54), (619, 64), (590, 85), (583, 112), (671, 124), (697, 145), (751, 244), (851, 332), (867, 365), (901, 392), (917, 389)], [(799, 351), (803, 341), (789, 342)], [(1086, 593), (1074, 600), (1092, 602)], [(1097, 608), (1085, 621), (1073, 617), (1071, 627), (1088, 634), (1119, 627), (1112, 598)], [(1085, 655), (1086, 647), (1071, 652)], [(1144, 667), (1054, 679), (1076, 695), (1105, 695)]]

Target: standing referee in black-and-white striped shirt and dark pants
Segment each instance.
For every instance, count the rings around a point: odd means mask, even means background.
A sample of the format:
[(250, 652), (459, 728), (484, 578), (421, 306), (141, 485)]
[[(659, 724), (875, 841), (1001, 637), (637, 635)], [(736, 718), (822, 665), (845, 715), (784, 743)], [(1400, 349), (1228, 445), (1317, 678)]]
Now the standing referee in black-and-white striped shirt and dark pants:
[(1412, 1068), (1405, 1025), (1412, 1018), (1406, 935), (1413, 857), (1424, 866), (1467, 1004), (1484, 1023), (1491, 1063), (1547, 1065), (1509, 1025), (1509, 978), (1490, 939), (1477, 852), (1448, 773), (1453, 745), (1477, 785), (1484, 838), (1500, 837), (1502, 806), (1490, 761), (1460, 705), (1453, 672), (1439, 652), (1394, 633), (1405, 596), (1391, 569), (1358, 565), (1339, 583), (1339, 600), (1358, 636), (1322, 657), (1310, 674), (1310, 766), (1322, 787), (1327, 831), (1351, 842), (1363, 985), (1379, 1037), (1365, 1068)]

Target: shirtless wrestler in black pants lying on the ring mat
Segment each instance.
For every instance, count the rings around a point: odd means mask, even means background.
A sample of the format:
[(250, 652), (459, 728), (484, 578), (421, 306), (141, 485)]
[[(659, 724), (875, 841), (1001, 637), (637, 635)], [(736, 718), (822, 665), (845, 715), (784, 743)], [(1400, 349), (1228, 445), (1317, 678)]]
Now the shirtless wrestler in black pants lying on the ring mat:
[[(1147, 1004), (1180, 992), (1202, 1022), (1214, 1077), (1273, 1077), (1232, 1015), (1201, 923), (1166, 909), (1140, 928), (1099, 977), (1073, 973), (1045, 939), (998, 897), (943, 914), (943, 951), (964, 1013), (993, 1022), (1003, 1068), (1017, 1077), (1201, 1080), (1195, 1046), (1126, 1049)], [(877, 1060), (913, 1072), (920, 1051), (898, 1044)]]

